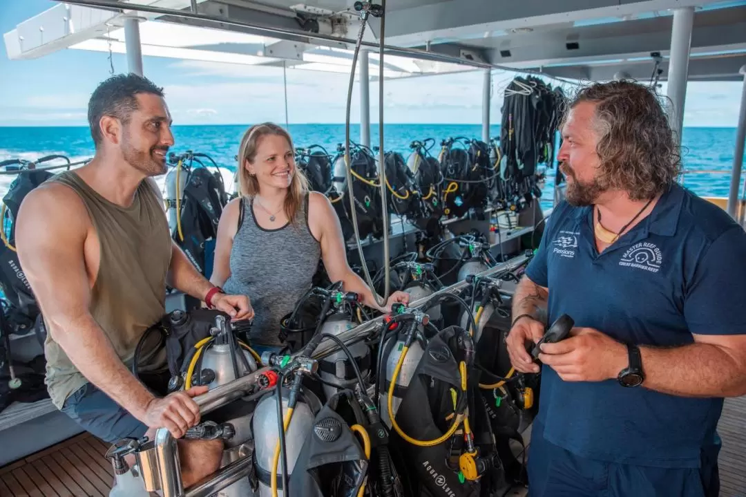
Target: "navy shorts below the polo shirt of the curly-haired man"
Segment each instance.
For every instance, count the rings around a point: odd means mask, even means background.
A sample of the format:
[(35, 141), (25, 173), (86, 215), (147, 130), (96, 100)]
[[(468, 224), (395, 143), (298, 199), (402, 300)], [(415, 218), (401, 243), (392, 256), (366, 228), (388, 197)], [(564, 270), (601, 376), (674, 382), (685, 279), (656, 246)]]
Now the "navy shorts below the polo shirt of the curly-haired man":
[(547, 442), (534, 426), (528, 449), (529, 497), (716, 497), (719, 446), (703, 448), (700, 469), (606, 463)]

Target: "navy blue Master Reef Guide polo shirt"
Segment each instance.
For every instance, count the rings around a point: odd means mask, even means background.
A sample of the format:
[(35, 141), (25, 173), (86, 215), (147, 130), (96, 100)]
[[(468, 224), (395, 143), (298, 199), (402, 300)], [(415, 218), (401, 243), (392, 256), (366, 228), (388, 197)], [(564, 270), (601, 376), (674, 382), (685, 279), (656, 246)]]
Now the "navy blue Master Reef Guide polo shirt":
[[(576, 326), (651, 346), (746, 334), (746, 232), (724, 210), (673, 184), (601, 254), (592, 223), (592, 207), (559, 204), (527, 267), (549, 289), (550, 323), (567, 313)], [(542, 366), (537, 422), (546, 440), (581, 457), (696, 468), (722, 405), (616, 380), (562, 381)]]

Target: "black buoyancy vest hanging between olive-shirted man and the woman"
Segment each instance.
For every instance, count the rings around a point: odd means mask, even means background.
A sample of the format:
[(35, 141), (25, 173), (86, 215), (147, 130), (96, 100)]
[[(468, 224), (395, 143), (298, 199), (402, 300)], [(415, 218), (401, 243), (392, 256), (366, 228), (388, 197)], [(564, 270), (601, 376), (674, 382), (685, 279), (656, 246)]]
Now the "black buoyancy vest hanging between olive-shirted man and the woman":
[(184, 187), (184, 204), (181, 207), (181, 232), (173, 234), (174, 240), (186, 252), (186, 256), (202, 275), (207, 274), (204, 243), (215, 240), (223, 207), (228, 203), (228, 194), (220, 172), (210, 172), (196, 167), (189, 172)]

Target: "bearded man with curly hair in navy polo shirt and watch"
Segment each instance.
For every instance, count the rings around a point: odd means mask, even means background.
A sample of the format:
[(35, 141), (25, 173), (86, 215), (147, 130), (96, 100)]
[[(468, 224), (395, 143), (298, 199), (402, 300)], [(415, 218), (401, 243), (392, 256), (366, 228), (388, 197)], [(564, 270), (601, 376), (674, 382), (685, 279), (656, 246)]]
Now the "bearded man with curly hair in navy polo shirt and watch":
[(626, 81), (580, 91), (562, 122), (566, 200), (513, 298), (510, 360), (541, 346), (529, 495), (718, 495), (723, 398), (746, 394), (746, 232), (675, 181), (658, 99)]

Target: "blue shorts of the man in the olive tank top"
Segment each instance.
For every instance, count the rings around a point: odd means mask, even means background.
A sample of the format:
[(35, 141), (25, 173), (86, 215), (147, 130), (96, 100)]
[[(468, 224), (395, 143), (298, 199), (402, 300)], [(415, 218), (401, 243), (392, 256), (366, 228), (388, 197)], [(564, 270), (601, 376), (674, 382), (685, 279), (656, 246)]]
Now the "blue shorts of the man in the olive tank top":
[[(155, 395), (166, 393), (163, 381), (168, 381), (163, 375), (151, 381), (143, 378), (146, 385), (156, 386), (150, 388)], [(148, 431), (148, 427), (140, 420), (91, 383), (85, 384), (66, 398), (62, 412), (85, 431), (106, 443), (115, 443), (125, 437), (141, 438)]]

